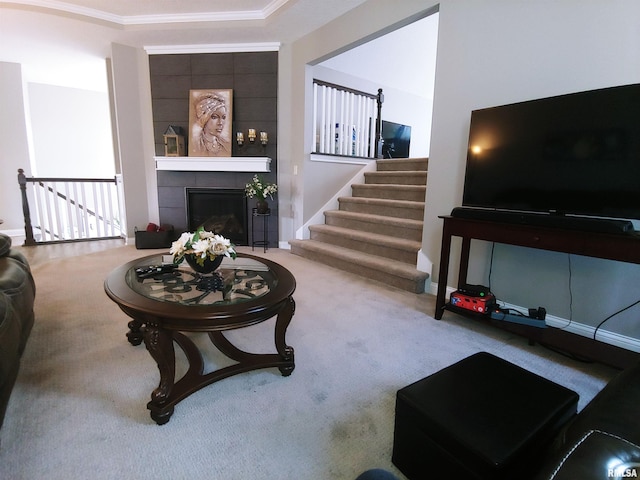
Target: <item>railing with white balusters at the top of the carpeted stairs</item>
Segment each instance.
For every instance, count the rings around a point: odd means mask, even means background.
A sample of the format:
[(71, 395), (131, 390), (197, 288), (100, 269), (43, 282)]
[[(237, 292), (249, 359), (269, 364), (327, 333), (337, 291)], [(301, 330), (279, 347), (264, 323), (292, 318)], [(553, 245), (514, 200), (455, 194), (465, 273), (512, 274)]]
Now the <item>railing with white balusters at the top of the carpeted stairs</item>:
[(381, 158), (382, 89), (378, 94), (313, 81), (313, 145), (326, 155)]

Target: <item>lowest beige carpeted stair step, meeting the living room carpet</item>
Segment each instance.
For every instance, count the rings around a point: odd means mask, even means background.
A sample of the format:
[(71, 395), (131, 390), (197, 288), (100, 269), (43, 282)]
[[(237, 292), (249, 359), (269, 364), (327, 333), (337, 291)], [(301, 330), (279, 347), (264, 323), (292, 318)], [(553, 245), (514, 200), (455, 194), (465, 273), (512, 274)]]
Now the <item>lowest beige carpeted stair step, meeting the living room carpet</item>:
[(413, 293), (423, 293), (429, 277), (403, 262), (315, 240), (289, 240), (289, 244), (295, 255)]

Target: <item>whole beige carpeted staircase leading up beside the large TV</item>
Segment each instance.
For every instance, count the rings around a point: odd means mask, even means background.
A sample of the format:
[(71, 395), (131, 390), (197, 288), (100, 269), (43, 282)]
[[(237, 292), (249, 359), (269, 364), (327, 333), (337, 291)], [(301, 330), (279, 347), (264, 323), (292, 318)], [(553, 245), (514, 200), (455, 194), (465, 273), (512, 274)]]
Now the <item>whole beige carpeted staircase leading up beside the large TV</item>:
[(429, 275), (416, 269), (422, 242), (427, 158), (378, 160), (364, 184), (351, 185), (339, 210), (309, 227), (291, 252), (414, 293)]

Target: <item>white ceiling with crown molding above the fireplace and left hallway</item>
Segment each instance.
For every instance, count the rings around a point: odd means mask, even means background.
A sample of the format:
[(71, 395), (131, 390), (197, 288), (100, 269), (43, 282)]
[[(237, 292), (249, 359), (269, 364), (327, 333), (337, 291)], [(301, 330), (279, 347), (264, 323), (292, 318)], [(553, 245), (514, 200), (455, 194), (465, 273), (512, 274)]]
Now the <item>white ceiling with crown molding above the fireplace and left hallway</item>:
[(282, 45), (366, 1), (0, 0), (0, 58), (20, 63), (30, 82), (101, 90), (106, 85), (96, 87), (89, 72), (104, 77), (112, 43), (146, 49)]

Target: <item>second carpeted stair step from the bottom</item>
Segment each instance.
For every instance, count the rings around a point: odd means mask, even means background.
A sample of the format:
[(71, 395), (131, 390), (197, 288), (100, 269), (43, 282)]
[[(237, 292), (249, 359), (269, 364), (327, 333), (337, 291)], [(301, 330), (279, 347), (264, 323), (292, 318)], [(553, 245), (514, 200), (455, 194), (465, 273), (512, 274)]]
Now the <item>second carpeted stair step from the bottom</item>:
[(311, 239), (415, 266), (420, 242), (333, 225), (309, 226)]

